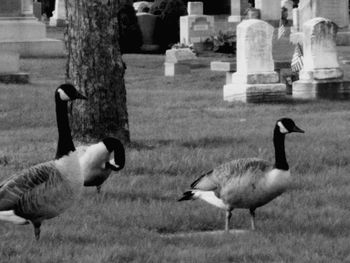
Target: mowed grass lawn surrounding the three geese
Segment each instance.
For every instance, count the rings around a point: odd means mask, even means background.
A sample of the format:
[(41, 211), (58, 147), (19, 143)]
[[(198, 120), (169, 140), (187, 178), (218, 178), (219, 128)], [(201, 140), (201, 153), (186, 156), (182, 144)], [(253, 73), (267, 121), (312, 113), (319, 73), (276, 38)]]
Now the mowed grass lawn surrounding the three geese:
[[(164, 57), (126, 55), (132, 143), (124, 170), (97, 195), (85, 188), (61, 216), (31, 225), (0, 223), (0, 262), (350, 262), (350, 103), (245, 105), (222, 100), (225, 76), (197, 67), (164, 77)], [(0, 84), (0, 177), (54, 157), (53, 92), (64, 59), (25, 59), (31, 84)], [(273, 161), (275, 120), (305, 134), (286, 138), (297, 189), (257, 210), (257, 228), (224, 228), (224, 211), (177, 202), (202, 172), (239, 157)], [(75, 142), (76, 145), (79, 142)], [(249, 229), (234, 210), (232, 227)], [(191, 234), (184, 234), (191, 233)]]

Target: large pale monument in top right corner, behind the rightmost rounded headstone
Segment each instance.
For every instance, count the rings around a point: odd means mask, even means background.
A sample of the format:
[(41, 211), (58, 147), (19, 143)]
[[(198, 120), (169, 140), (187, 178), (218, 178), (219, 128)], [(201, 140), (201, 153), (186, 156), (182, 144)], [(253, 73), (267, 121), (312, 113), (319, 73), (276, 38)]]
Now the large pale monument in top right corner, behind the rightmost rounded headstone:
[(297, 31), (291, 37), (293, 42), (302, 42), (303, 24), (316, 17), (327, 18), (338, 26), (337, 44), (350, 45), (349, 0), (300, 0), (297, 14), (293, 18)]

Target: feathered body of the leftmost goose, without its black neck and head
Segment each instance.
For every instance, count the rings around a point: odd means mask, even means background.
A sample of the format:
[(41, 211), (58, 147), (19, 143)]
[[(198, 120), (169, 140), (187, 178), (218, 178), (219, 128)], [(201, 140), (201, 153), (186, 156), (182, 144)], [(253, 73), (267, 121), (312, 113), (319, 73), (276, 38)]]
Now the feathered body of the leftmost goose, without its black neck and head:
[(22, 223), (41, 224), (72, 205), (82, 191), (83, 180), (75, 152), (32, 166), (1, 183), (0, 211), (12, 210)]

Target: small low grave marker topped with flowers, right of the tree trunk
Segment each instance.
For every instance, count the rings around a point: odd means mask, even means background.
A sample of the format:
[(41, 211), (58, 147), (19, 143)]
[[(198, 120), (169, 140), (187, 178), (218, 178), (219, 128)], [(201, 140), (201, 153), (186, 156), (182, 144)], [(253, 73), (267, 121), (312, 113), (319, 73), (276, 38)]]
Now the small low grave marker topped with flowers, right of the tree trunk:
[(165, 53), (165, 76), (191, 73), (191, 67), (188, 62), (196, 58), (196, 55), (189, 48), (168, 49)]

